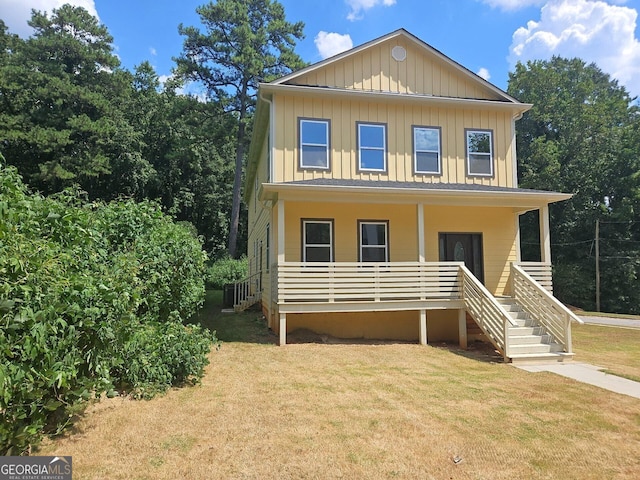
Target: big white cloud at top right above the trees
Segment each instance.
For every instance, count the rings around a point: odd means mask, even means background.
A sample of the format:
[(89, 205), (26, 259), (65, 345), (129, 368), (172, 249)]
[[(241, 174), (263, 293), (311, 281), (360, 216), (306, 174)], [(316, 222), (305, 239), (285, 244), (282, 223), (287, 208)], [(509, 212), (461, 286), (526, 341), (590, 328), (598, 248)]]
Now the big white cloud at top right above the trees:
[[(618, 2), (620, 3), (620, 2)], [(640, 95), (640, 42), (635, 37), (638, 12), (593, 0), (549, 0), (540, 20), (513, 34), (509, 63), (549, 59), (553, 55), (594, 62)]]

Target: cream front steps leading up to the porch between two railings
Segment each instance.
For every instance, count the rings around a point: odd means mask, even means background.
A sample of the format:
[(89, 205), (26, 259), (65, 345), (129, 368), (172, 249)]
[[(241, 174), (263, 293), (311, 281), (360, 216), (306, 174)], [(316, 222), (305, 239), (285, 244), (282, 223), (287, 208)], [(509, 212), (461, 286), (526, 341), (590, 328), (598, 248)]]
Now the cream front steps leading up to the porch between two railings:
[(511, 297), (496, 297), (496, 300), (511, 316), (517, 326), (508, 327), (509, 358), (512, 363), (564, 362), (573, 358), (573, 353), (564, 351), (544, 326)]

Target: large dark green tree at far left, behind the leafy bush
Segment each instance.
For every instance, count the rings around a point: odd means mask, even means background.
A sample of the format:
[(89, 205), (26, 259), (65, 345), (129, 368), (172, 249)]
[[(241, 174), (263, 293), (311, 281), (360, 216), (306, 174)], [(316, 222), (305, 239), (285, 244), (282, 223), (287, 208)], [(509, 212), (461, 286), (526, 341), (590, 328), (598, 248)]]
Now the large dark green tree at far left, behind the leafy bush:
[[(0, 149), (45, 192), (80, 184), (93, 197), (138, 194), (148, 175), (138, 136), (119, 106), (131, 75), (113, 38), (85, 9), (34, 11), (27, 40), (7, 37), (0, 64)], [(117, 178), (115, 178), (117, 177)]]

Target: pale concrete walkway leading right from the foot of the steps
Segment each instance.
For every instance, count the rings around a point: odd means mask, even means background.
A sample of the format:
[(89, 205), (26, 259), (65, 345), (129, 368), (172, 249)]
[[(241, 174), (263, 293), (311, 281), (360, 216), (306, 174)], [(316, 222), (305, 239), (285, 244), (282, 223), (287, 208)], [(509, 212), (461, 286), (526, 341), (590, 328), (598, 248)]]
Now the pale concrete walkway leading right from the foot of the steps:
[(554, 363), (554, 364), (539, 364), (539, 365), (514, 365), (517, 368), (526, 370), (527, 372), (552, 372), (563, 377), (572, 378), (579, 382), (595, 385), (596, 387), (604, 388), (612, 392), (621, 393), (622, 395), (629, 395), (640, 399), (640, 382), (634, 382), (627, 380), (626, 378), (618, 377), (616, 375), (609, 375), (601, 370), (601, 367), (596, 367), (589, 363), (579, 362), (567, 362), (567, 363)]

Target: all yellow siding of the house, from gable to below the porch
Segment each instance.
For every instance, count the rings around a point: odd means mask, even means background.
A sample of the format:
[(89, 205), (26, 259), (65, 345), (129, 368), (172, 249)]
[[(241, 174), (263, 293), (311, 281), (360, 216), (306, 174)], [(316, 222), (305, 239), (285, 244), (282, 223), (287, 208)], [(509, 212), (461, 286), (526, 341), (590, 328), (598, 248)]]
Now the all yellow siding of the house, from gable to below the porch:
[[(397, 46), (406, 50), (403, 61), (392, 57), (392, 50)], [(273, 88), (265, 91), (265, 96), (260, 97), (264, 101), (259, 103), (263, 103), (263, 109), (268, 109), (266, 136), (259, 155), (252, 157), (257, 158), (253, 165), (258, 185), (330, 178), (516, 187), (514, 117), (525, 111), (526, 106), (406, 32), (384, 37), (273, 82)], [(263, 124), (266, 118), (262, 116)], [(330, 121), (330, 169), (299, 167), (301, 118)], [(386, 124), (385, 172), (358, 171), (358, 122)], [(441, 175), (414, 174), (413, 126), (440, 128)], [(491, 177), (467, 175), (467, 129), (492, 132)], [(264, 132), (263, 129), (259, 133)], [(269, 142), (270, 135), (273, 136)], [(272, 176), (268, 175), (269, 170)], [(331, 194), (299, 192), (290, 196), (281, 192), (276, 199), (262, 203), (256, 198), (254, 185), (247, 185), (247, 188), (252, 190), (245, 192), (249, 208), (250, 256), (255, 242), (266, 240), (266, 225), (270, 223), (270, 257), (272, 263), (277, 261), (278, 225), (283, 221), (283, 260), (301, 261), (302, 219), (332, 219), (336, 262), (358, 260), (358, 220), (389, 222), (391, 262), (419, 258), (419, 199), (413, 202), (389, 198), (387, 204), (383, 203), (385, 196), (381, 196), (367, 203), (368, 200), (357, 193), (343, 194), (339, 201)], [(278, 218), (279, 202), (284, 205), (284, 219)], [(507, 293), (508, 266), (517, 260), (518, 249), (514, 210), (428, 203), (422, 208), (426, 261), (439, 260), (440, 233), (481, 233), (485, 284), (494, 294)], [(277, 305), (271, 303), (270, 280), (270, 274), (263, 276), (262, 305), (270, 327), (277, 331)], [(418, 318), (417, 312), (289, 313), (287, 330), (305, 327), (344, 337), (417, 339)], [(455, 311), (430, 311), (428, 323), (430, 340), (457, 337)]]

